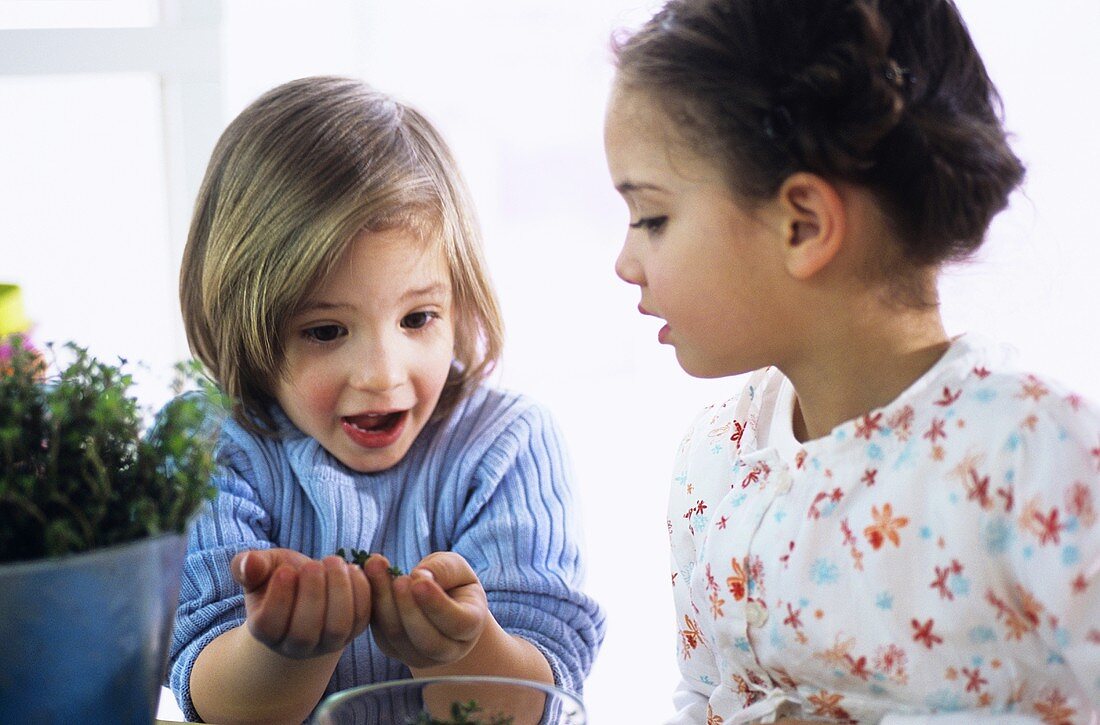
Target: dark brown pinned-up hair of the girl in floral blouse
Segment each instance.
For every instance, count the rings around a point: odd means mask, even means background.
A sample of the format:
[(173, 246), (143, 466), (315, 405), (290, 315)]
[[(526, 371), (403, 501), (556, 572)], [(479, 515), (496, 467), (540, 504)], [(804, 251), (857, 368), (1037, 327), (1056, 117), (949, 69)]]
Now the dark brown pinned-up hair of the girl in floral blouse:
[(614, 50), (735, 194), (800, 171), (861, 185), (912, 264), (978, 249), (1023, 179), (952, 0), (672, 0)]

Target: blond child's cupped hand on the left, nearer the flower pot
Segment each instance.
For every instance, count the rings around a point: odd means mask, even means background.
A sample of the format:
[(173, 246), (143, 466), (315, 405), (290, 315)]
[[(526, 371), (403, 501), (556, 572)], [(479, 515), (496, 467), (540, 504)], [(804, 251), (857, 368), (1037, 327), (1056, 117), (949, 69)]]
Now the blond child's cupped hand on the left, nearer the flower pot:
[(244, 587), (249, 631), (293, 659), (345, 647), (371, 622), (371, 584), (340, 557), (310, 559), (292, 549), (242, 551), (233, 579)]

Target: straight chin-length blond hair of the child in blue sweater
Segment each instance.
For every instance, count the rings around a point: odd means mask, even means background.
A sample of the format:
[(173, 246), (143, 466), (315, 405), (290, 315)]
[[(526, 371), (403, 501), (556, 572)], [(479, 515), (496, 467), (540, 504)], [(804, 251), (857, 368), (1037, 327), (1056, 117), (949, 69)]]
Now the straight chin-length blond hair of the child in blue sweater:
[(222, 133), (207, 167), (179, 275), (191, 352), (271, 431), (286, 322), (361, 231), (438, 240), (454, 295), (448, 414), (495, 365), (503, 322), (481, 233), (447, 144), (415, 109), (351, 78), (278, 86)]

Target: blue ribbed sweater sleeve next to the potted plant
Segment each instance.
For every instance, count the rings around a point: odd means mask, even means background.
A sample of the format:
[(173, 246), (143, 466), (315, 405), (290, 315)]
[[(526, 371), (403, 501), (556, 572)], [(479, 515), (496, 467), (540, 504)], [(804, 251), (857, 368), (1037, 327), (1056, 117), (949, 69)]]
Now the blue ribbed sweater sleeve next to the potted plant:
[(168, 650), (168, 685), (188, 721), (200, 722), (191, 702), (191, 668), (219, 635), (245, 620), (244, 594), (230, 562), (246, 549), (268, 549), (270, 517), (250, 483), (254, 471), (244, 451), (219, 443), (213, 485), (218, 495), (196, 517), (179, 584), (179, 604)]

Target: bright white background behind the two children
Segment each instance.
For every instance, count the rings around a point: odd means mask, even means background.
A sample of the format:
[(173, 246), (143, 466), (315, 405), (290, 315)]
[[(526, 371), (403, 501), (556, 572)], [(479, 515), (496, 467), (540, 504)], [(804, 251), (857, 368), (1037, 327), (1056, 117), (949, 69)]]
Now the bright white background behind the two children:
[[(33, 4), (90, 3), (0, 0), (0, 26)], [(949, 331), (1011, 341), (1100, 398), (1100, 3), (959, 6), (1030, 172), (983, 252), (945, 276)], [(608, 616), (586, 688), (597, 724), (670, 711), (666, 479), (693, 414), (737, 388), (684, 375), (613, 272), (627, 216), (602, 151), (607, 41), (654, 7), (228, 0), (222, 11), (222, 125), (274, 85), (337, 73), (418, 106), (452, 143), (505, 310), (498, 380), (551, 406), (572, 451), (588, 591)], [(152, 76), (0, 76), (0, 282), (23, 285), (40, 340), (144, 361), (154, 377), (186, 354), (158, 113)]]

